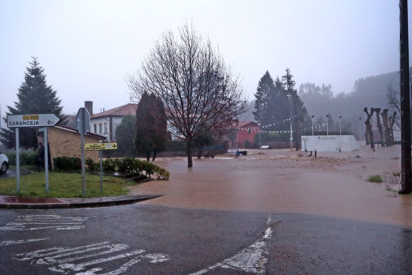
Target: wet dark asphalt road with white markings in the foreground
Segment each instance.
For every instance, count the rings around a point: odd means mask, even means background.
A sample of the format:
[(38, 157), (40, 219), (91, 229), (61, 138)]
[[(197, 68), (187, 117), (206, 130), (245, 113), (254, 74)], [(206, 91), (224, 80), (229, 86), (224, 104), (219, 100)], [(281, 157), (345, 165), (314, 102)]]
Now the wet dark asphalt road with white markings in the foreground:
[[(412, 274), (411, 239), (410, 228), (306, 214), (0, 210), (2, 274)], [(5, 242), (17, 240), (32, 241)]]

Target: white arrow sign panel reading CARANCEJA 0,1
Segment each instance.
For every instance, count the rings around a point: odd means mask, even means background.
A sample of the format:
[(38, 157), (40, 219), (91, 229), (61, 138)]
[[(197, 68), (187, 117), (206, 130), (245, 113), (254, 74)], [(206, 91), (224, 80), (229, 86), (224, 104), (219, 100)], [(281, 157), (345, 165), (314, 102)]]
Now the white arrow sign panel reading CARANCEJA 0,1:
[(47, 127), (56, 125), (60, 120), (54, 113), (7, 115), (7, 127)]

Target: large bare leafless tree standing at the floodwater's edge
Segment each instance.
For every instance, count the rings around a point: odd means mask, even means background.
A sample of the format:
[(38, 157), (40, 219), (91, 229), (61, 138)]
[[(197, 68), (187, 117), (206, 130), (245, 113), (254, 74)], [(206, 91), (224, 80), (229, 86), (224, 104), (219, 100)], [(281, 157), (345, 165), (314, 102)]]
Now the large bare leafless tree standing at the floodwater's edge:
[(175, 129), (169, 132), (187, 142), (187, 167), (193, 166), (196, 135), (229, 133), (246, 111), (239, 76), (232, 74), (209, 38), (187, 23), (177, 35), (164, 32), (127, 82), (134, 101), (145, 92), (162, 99), (166, 118)]

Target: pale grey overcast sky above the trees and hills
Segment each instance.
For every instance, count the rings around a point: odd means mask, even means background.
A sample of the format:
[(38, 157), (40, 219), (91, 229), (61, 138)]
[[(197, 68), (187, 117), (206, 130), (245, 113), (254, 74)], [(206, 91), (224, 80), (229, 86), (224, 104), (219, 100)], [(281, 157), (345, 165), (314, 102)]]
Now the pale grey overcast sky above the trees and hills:
[[(0, 105), (16, 101), (30, 56), (67, 114), (129, 103), (124, 77), (166, 29), (192, 20), (208, 34), (249, 99), (269, 70), (350, 92), (361, 77), (399, 67), (395, 0), (342, 1), (5, 1), (0, 0)], [(411, 23), (412, 24), (412, 23)]]

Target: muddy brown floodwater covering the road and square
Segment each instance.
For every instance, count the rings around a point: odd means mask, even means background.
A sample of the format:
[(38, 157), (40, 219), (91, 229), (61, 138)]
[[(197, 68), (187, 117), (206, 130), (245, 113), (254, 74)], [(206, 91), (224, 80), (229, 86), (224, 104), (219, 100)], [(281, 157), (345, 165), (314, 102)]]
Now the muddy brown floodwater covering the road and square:
[(150, 181), (133, 190), (165, 194), (145, 204), (321, 214), (412, 227), (411, 195), (394, 197), (384, 183), (365, 181), (368, 175), (399, 166), (400, 146), (318, 153), (317, 158), (298, 153), (249, 149), (249, 155), (238, 159), (194, 159), (193, 168), (186, 167), (185, 158), (160, 158), (156, 164), (169, 169), (170, 180)]

